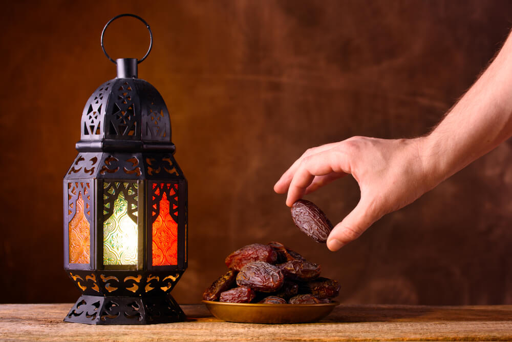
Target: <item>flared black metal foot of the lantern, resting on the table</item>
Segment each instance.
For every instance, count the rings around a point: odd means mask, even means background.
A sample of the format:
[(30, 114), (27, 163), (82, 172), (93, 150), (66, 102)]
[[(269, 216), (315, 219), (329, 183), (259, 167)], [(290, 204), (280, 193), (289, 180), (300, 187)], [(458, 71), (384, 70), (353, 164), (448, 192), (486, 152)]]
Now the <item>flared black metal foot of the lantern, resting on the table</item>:
[(82, 295), (64, 318), (66, 322), (97, 325), (172, 323), (185, 314), (171, 295), (124, 297)]

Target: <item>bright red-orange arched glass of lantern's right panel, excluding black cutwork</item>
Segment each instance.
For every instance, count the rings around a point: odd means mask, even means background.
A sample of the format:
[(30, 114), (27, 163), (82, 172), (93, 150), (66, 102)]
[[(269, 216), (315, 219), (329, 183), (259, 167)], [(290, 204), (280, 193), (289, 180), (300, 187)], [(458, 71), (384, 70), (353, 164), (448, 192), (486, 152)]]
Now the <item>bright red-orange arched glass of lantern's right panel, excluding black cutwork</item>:
[(160, 213), (153, 223), (153, 266), (178, 265), (178, 224), (169, 214), (165, 192), (160, 200)]

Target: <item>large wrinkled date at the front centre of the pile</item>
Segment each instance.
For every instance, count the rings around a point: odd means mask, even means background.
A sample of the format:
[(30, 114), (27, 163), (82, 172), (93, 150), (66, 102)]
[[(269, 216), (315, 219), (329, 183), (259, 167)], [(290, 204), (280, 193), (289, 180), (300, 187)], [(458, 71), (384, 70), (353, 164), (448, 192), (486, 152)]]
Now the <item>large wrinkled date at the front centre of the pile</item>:
[(237, 275), (237, 285), (254, 291), (274, 292), (283, 286), (284, 276), (281, 270), (264, 261), (254, 261), (242, 267)]

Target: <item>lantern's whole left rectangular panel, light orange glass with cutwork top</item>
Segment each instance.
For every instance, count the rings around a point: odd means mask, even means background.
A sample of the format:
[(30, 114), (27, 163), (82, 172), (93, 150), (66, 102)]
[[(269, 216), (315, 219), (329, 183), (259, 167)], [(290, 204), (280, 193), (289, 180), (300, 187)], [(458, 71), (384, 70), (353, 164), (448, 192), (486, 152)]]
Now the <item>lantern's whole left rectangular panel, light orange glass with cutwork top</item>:
[(87, 219), (91, 216), (89, 188), (89, 183), (68, 183), (68, 215), (72, 217), (68, 224), (70, 264), (89, 264), (91, 260), (91, 225)]

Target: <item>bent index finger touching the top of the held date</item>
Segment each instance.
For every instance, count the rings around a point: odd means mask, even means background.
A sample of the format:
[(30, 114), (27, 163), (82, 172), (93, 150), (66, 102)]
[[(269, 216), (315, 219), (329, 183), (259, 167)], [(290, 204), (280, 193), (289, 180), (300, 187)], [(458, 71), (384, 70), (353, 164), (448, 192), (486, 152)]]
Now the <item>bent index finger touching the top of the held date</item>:
[[(306, 189), (312, 184), (315, 176), (325, 176), (333, 173), (348, 173), (347, 158), (340, 158), (340, 153), (334, 150), (327, 150), (312, 154), (302, 159), (295, 170), (288, 187), (286, 205), (291, 207), (297, 199), (302, 198)], [(329, 178), (325, 178), (329, 179)], [(322, 178), (319, 179), (319, 182)], [(313, 187), (316, 185), (313, 185)]]

